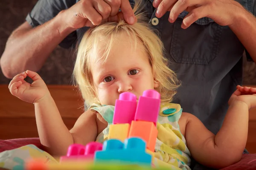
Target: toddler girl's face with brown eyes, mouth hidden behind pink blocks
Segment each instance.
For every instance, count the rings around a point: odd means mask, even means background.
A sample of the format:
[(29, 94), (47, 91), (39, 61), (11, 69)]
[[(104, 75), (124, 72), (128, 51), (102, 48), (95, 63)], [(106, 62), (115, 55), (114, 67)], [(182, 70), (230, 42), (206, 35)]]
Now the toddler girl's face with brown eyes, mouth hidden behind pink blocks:
[[(143, 45), (137, 43), (135, 48), (126, 34), (119, 34), (116, 40), (106, 61), (91, 63), (94, 88), (102, 105), (115, 105), (119, 94), (126, 91), (135, 94), (138, 100), (143, 91), (158, 87)], [(104, 53), (104, 46), (104, 41), (99, 43), (98, 55)]]

